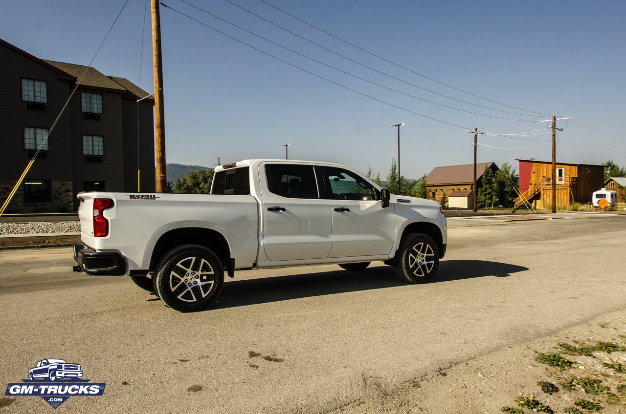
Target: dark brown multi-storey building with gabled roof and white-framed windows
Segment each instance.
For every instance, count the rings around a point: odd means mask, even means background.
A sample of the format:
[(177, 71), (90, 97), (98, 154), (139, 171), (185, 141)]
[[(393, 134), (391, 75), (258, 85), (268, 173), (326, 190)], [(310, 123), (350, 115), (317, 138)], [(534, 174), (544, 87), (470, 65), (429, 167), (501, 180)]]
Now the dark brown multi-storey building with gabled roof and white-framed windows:
[(137, 102), (146, 91), (2, 39), (0, 56), (2, 203), (39, 150), (4, 213), (73, 211), (80, 191), (155, 191), (154, 101)]

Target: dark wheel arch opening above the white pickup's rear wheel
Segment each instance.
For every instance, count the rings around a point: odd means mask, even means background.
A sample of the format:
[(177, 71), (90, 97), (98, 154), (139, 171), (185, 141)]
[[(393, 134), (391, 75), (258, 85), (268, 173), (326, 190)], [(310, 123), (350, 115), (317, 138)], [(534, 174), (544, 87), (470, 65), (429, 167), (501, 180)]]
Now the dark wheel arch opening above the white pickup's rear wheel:
[(155, 270), (156, 263), (167, 251), (180, 245), (203, 246), (217, 255), (229, 274), (233, 271), (230, 245), (226, 238), (218, 231), (202, 227), (176, 228), (163, 233), (152, 250), (150, 270)]

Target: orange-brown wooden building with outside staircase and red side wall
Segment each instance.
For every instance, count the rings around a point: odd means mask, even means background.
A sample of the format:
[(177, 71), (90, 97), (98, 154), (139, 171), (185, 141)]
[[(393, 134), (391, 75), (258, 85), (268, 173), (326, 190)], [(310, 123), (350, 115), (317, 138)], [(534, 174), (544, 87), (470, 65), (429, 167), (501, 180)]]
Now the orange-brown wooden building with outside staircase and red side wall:
[[(552, 205), (552, 161), (518, 159), (520, 162), (520, 193), (515, 210), (523, 206), (548, 208)], [(604, 186), (604, 166), (594, 164), (557, 163), (557, 208), (571, 203), (588, 203), (593, 191)]]

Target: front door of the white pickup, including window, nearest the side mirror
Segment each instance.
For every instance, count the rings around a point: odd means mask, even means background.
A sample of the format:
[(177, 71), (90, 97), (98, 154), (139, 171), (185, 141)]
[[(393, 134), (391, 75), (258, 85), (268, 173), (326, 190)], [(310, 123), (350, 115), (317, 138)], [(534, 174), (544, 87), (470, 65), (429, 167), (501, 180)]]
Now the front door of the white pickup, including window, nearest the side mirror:
[(388, 255), (394, 243), (394, 205), (382, 208), (379, 191), (343, 168), (319, 167), (331, 202), (332, 248), (329, 257)]

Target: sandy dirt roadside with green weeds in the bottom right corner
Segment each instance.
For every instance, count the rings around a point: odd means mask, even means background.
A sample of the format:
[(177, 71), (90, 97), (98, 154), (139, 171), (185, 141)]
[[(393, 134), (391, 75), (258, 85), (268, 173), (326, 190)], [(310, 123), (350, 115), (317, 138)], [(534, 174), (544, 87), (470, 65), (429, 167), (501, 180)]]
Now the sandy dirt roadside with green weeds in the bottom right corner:
[[(603, 350), (570, 355), (561, 344)], [(558, 354), (571, 366), (546, 365), (538, 361), (541, 354)], [(539, 381), (557, 391), (542, 391)], [(626, 314), (605, 315), (532, 343), (442, 366), (400, 386), (370, 386), (375, 391), (366, 398), (332, 414), (626, 413)]]

